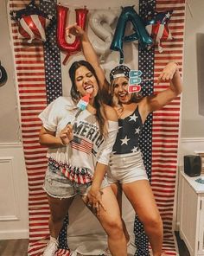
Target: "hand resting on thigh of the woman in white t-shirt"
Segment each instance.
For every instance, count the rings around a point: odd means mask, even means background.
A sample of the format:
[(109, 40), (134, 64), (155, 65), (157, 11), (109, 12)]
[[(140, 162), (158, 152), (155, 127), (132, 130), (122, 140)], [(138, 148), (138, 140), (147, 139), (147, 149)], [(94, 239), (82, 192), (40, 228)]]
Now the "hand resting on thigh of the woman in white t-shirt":
[(88, 194), (86, 195), (86, 205), (89, 208), (92, 208), (92, 210), (95, 210), (97, 215), (99, 214), (100, 207), (106, 210), (102, 202), (102, 195), (103, 192), (100, 191), (99, 189), (90, 189), (88, 191)]

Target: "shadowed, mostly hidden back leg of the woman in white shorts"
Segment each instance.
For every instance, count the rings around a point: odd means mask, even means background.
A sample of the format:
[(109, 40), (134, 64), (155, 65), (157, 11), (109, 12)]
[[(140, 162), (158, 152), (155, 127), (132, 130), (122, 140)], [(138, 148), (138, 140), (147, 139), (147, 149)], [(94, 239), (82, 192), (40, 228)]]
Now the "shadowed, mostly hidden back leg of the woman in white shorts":
[(128, 234), (127, 227), (124, 223), (124, 219), (122, 218), (122, 193), (123, 193), (123, 190), (119, 183), (112, 183), (111, 187), (112, 187), (112, 191), (116, 195), (116, 198), (118, 201), (120, 216), (121, 216), (121, 220), (123, 223), (124, 235), (125, 235), (126, 242), (128, 243), (130, 240), (130, 235)]

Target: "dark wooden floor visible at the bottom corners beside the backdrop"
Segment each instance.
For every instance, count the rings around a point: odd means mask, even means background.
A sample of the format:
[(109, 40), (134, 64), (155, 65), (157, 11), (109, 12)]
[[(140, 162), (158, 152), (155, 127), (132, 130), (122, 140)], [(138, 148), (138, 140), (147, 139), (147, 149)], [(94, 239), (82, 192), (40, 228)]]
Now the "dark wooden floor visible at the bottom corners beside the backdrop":
[[(179, 256), (190, 256), (184, 242), (180, 239), (178, 232), (175, 233)], [(28, 256), (27, 248), (29, 240), (0, 240), (1, 256)], [(142, 255), (141, 255), (142, 256)]]

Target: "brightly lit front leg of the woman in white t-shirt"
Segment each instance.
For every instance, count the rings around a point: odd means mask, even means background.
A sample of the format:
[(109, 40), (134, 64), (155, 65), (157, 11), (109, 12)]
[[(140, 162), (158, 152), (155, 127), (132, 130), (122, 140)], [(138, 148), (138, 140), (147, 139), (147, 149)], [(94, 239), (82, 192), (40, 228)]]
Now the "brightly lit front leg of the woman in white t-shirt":
[[(83, 197), (83, 201), (86, 202), (86, 196)], [(112, 256), (126, 256), (127, 246), (118, 202), (111, 187), (105, 187), (105, 189), (103, 189), (102, 201), (106, 211), (103, 208), (100, 208), (100, 213), (96, 217), (108, 235), (109, 250), (112, 253)], [(94, 210), (92, 210), (92, 213), (95, 214)]]

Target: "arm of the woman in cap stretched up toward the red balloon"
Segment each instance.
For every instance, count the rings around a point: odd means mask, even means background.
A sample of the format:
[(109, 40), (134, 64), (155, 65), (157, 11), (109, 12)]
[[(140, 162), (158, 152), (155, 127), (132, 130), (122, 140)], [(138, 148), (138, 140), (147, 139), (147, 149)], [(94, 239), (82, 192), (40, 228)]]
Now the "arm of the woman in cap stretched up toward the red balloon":
[(75, 35), (80, 36), (80, 42), (83, 54), (92, 67), (95, 69), (97, 77), (99, 78), (99, 86), (100, 89), (105, 89), (108, 91), (108, 81), (105, 79), (104, 70), (99, 65), (99, 59), (97, 54), (95, 53), (94, 48), (92, 47), (92, 43), (90, 42), (86, 31), (80, 28), (77, 24), (73, 24), (67, 27), (66, 29), (67, 35)]

